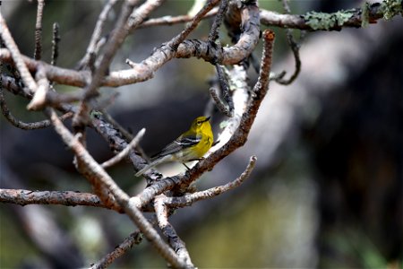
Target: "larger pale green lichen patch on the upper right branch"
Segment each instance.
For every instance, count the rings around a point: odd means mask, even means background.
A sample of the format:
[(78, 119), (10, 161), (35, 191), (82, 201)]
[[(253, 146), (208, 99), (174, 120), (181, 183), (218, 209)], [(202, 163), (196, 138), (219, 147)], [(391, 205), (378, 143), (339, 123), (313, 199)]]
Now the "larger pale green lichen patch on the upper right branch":
[(330, 28), (342, 26), (355, 13), (355, 10), (340, 10), (337, 13), (317, 13), (309, 12), (303, 15), (306, 24), (313, 30), (330, 30)]

